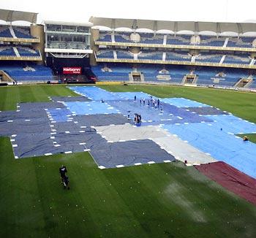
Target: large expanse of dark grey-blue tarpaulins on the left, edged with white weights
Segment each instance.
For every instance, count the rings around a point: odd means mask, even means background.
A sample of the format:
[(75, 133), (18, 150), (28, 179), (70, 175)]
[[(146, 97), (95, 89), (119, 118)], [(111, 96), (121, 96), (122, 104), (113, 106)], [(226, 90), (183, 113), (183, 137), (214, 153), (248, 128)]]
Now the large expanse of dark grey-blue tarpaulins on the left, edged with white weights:
[[(128, 126), (129, 131), (131, 120), (126, 115), (73, 115), (70, 112), (69, 121), (55, 121), (50, 115), (51, 109), (64, 108), (59, 102), (22, 103), (18, 104), (17, 111), (0, 112), (0, 135), (10, 137), (15, 158), (90, 151), (96, 163), (105, 168), (175, 160), (151, 139), (144, 139), (146, 134), (143, 139), (110, 143), (94, 128), (123, 125)], [(148, 133), (151, 134), (151, 129)]]

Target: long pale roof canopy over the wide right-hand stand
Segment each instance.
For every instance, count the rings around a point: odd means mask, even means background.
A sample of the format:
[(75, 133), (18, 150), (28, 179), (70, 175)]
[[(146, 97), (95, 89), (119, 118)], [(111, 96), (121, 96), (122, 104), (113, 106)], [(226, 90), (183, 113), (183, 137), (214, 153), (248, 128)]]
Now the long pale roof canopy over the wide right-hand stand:
[(256, 32), (256, 23), (211, 23), (193, 21), (166, 21), (166, 20), (138, 20), (120, 18), (94, 18), (91, 23), (96, 26), (107, 26), (109, 28), (148, 28), (152, 31), (169, 30), (178, 31), (212, 31), (215, 33), (235, 32), (244, 34), (246, 32)]

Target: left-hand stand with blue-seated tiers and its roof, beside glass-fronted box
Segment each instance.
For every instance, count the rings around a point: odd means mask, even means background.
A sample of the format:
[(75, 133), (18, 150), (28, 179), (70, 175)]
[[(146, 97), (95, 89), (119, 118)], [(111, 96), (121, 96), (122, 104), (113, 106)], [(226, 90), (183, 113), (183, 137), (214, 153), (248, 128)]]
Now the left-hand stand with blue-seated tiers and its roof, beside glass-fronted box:
[[(45, 43), (40, 37), (44, 26), (37, 25), (37, 13), (15, 12), (1, 9), (0, 25), (0, 71), (5, 82), (48, 82), (55, 80), (52, 70), (44, 66), (41, 52)], [(30, 26), (15, 26), (13, 21), (24, 20)], [(31, 35), (33, 30), (36, 37)], [(34, 45), (34, 44), (37, 45)], [(37, 63), (35, 63), (37, 62)]]

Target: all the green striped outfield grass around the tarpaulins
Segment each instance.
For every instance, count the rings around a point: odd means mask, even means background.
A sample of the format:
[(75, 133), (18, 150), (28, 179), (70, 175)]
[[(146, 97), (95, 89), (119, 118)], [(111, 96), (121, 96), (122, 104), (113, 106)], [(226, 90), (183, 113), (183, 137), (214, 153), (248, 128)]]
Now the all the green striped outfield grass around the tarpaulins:
[[(256, 122), (256, 94), (160, 86), (102, 86), (183, 96)], [(18, 101), (75, 96), (63, 85), (0, 88)], [(65, 164), (70, 191), (59, 166)], [(89, 153), (15, 160), (0, 138), (0, 237), (256, 237), (256, 207), (179, 162), (100, 170)]]

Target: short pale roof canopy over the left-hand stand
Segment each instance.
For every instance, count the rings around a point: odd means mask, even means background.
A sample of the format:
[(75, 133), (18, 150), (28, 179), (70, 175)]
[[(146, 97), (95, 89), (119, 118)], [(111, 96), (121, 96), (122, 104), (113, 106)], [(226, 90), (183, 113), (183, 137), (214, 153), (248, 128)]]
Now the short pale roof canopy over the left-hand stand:
[(24, 20), (29, 23), (37, 22), (37, 14), (34, 12), (20, 12), (7, 9), (0, 9), (0, 20), (5, 20), (6, 22), (13, 22), (15, 20)]

